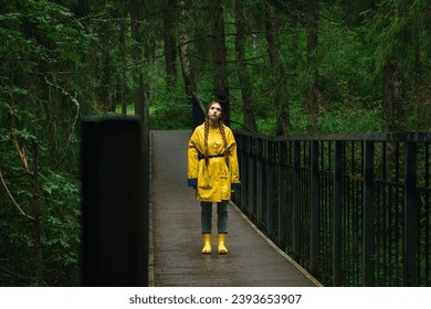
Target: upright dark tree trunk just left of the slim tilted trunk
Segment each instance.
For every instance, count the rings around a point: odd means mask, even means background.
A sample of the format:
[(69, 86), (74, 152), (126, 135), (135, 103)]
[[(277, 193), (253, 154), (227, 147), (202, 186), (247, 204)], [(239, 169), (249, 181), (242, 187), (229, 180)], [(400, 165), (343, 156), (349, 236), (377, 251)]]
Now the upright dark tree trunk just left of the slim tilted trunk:
[(177, 42), (172, 35), (172, 21), (176, 7), (177, 0), (167, 0), (167, 9), (164, 15), (165, 65), (168, 92), (172, 92), (177, 84)]

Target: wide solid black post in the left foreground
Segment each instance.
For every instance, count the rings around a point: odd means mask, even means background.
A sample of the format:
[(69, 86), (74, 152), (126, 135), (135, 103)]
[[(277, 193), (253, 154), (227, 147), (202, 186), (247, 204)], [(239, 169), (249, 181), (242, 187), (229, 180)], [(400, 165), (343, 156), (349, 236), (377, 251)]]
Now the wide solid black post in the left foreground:
[(82, 122), (82, 285), (148, 285), (148, 204), (141, 125)]

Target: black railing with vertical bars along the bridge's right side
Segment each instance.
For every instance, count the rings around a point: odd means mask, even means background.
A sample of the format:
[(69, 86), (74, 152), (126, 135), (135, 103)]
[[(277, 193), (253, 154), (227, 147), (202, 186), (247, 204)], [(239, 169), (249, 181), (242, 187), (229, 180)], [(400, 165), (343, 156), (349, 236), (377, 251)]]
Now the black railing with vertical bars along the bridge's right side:
[(431, 132), (235, 138), (233, 201), (323, 285), (431, 285)]

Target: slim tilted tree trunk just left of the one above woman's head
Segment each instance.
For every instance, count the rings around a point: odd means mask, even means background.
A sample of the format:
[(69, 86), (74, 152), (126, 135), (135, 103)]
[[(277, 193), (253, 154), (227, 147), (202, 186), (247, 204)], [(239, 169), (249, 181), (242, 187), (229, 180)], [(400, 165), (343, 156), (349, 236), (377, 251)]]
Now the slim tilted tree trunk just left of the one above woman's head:
[[(190, 68), (190, 58), (189, 58), (189, 36), (187, 33), (187, 11), (185, 9), (185, 1), (178, 1), (179, 13), (179, 55), (181, 61), (181, 73), (185, 81), (186, 94), (190, 98), (195, 92), (197, 92), (197, 86), (193, 81), (192, 72)], [(191, 103), (192, 104), (192, 103)]]

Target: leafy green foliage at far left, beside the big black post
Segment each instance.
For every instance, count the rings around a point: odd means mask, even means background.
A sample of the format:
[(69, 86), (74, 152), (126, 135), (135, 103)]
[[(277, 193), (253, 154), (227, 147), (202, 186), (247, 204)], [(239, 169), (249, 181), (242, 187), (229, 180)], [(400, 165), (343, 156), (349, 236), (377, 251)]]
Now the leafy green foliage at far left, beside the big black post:
[[(19, 2), (19, 7), (9, 2), (0, 14), (0, 172), (4, 180), (0, 283), (36, 283), (35, 234), (28, 217), (35, 215), (38, 196), (43, 281), (76, 286), (81, 224), (75, 122), (78, 108), (85, 106), (76, 96), (88, 82), (77, 70), (88, 67), (86, 54), (96, 35), (52, 1)], [(40, 193), (32, 184), (34, 142), (39, 145)]]

